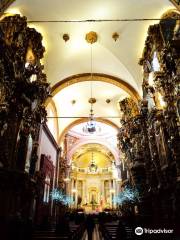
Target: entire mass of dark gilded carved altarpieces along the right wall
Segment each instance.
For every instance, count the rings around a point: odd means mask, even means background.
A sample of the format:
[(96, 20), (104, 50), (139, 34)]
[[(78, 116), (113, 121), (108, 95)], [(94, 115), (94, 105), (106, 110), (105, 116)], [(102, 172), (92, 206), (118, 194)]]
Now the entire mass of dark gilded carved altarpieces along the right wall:
[[(180, 15), (170, 11), (149, 26), (142, 58), (143, 100), (120, 102), (119, 147), (130, 183), (141, 192), (143, 221), (179, 222), (180, 212)], [(125, 183), (126, 184), (126, 183)]]

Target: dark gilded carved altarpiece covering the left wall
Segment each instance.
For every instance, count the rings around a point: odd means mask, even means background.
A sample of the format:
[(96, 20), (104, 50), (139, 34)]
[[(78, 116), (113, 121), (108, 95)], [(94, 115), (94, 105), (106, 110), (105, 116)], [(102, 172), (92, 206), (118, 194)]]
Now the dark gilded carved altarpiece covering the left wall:
[[(25, 17), (3, 18), (0, 26), (0, 142), (3, 146), (0, 162), (4, 167), (24, 170), (27, 137), (31, 134), (36, 142), (40, 124), (46, 120), (43, 103), (50, 88), (40, 63), (45, 51), (41, 42), (41, 34), (27, 27)], [(32, 162), (36, 159), (35, 148)]]

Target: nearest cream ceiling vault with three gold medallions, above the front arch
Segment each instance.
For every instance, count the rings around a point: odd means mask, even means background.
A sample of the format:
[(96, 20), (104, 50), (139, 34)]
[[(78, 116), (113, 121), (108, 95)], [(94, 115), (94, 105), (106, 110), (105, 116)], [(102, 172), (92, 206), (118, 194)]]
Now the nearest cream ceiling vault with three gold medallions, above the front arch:
[[(16, 0), (7, 11), (27, 16), (28, 20), (85, 20), (160, 18), (173, 8), (168, 0)], [(96, 31), (98, 41), (93, 45), (93, 71), (123, 79), (141, 93), (141, 57), (146, 32), (157, 21), (86, 22), (29, 24), (44, 38), (45, 72), (52, 86), (74, 74), (90, 72), (90, 46), (85, 34)], [(112, 34), (118, 32), (115, 42)], [(65, 43), (64, 33), (70, 35)]]

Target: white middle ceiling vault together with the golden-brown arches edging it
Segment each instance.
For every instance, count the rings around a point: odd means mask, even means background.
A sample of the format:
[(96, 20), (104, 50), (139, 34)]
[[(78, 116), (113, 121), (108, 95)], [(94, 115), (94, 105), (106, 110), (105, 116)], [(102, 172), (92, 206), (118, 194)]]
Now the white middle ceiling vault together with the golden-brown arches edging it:
[[(131, 96), (135, 102), (140, 99), (139, 94), (128, 83), (108, 75), (93, 74), (91, 79), (89, 74), (79, 74), (59, 82), (51, 91), (57, 109), (58, 144), (61, 144), (71, 127), (89, 120), (91, 84), (96, 121), (115, 128), (120, 127), (119, 101)], [(50, 99), (46, 102), (47, 106), (48, 102)]]

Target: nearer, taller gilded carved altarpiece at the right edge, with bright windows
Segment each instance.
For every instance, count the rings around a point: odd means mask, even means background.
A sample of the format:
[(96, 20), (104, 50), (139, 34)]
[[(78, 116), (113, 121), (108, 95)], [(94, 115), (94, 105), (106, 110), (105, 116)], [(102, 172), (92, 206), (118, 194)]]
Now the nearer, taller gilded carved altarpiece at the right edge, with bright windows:
[(148, 178), (153, 215), (159, 222), (173, 222), (180, 210), (179, 19), (179, 13), (172, 10), (163, 14), (159, 24), (149, 26), (139, 62), (143, 66), (143, 98), (148, 103), (146, 125), (152, 160)]

